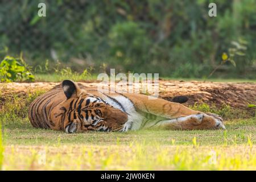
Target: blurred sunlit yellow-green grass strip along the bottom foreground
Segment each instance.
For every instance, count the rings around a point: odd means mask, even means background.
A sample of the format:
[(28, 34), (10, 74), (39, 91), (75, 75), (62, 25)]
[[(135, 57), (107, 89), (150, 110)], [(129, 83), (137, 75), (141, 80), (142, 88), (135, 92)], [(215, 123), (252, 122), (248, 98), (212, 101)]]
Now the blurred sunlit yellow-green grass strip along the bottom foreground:
[(8, 146), (4, 170), (255, 170), (256, 147), (128, 145)]

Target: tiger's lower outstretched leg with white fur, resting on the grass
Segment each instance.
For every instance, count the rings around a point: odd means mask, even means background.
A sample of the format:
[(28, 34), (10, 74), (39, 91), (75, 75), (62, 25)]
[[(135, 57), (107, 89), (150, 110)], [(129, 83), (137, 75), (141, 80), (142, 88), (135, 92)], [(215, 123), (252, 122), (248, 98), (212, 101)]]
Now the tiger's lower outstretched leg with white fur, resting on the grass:
[(174, 130), (225, 129), (220, 119), (204, 113), (192, 114), (176, 119), (167, 119), (159, 122), (158, 126)]

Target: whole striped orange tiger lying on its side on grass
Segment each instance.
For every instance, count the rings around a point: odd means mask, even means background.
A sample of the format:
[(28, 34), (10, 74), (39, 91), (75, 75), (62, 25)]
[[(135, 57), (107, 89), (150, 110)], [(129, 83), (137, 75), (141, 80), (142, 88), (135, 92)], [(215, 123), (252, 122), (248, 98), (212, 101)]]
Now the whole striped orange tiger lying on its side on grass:
[(61, 130), (129, 131), (150, 127), (202, 130), (225, 129), (223, 120), (213, 113), (202, 113), (161, 98), (148, 100), (143, 94), (102, 93), (64, 80), (30, 105), (32, 126)]

